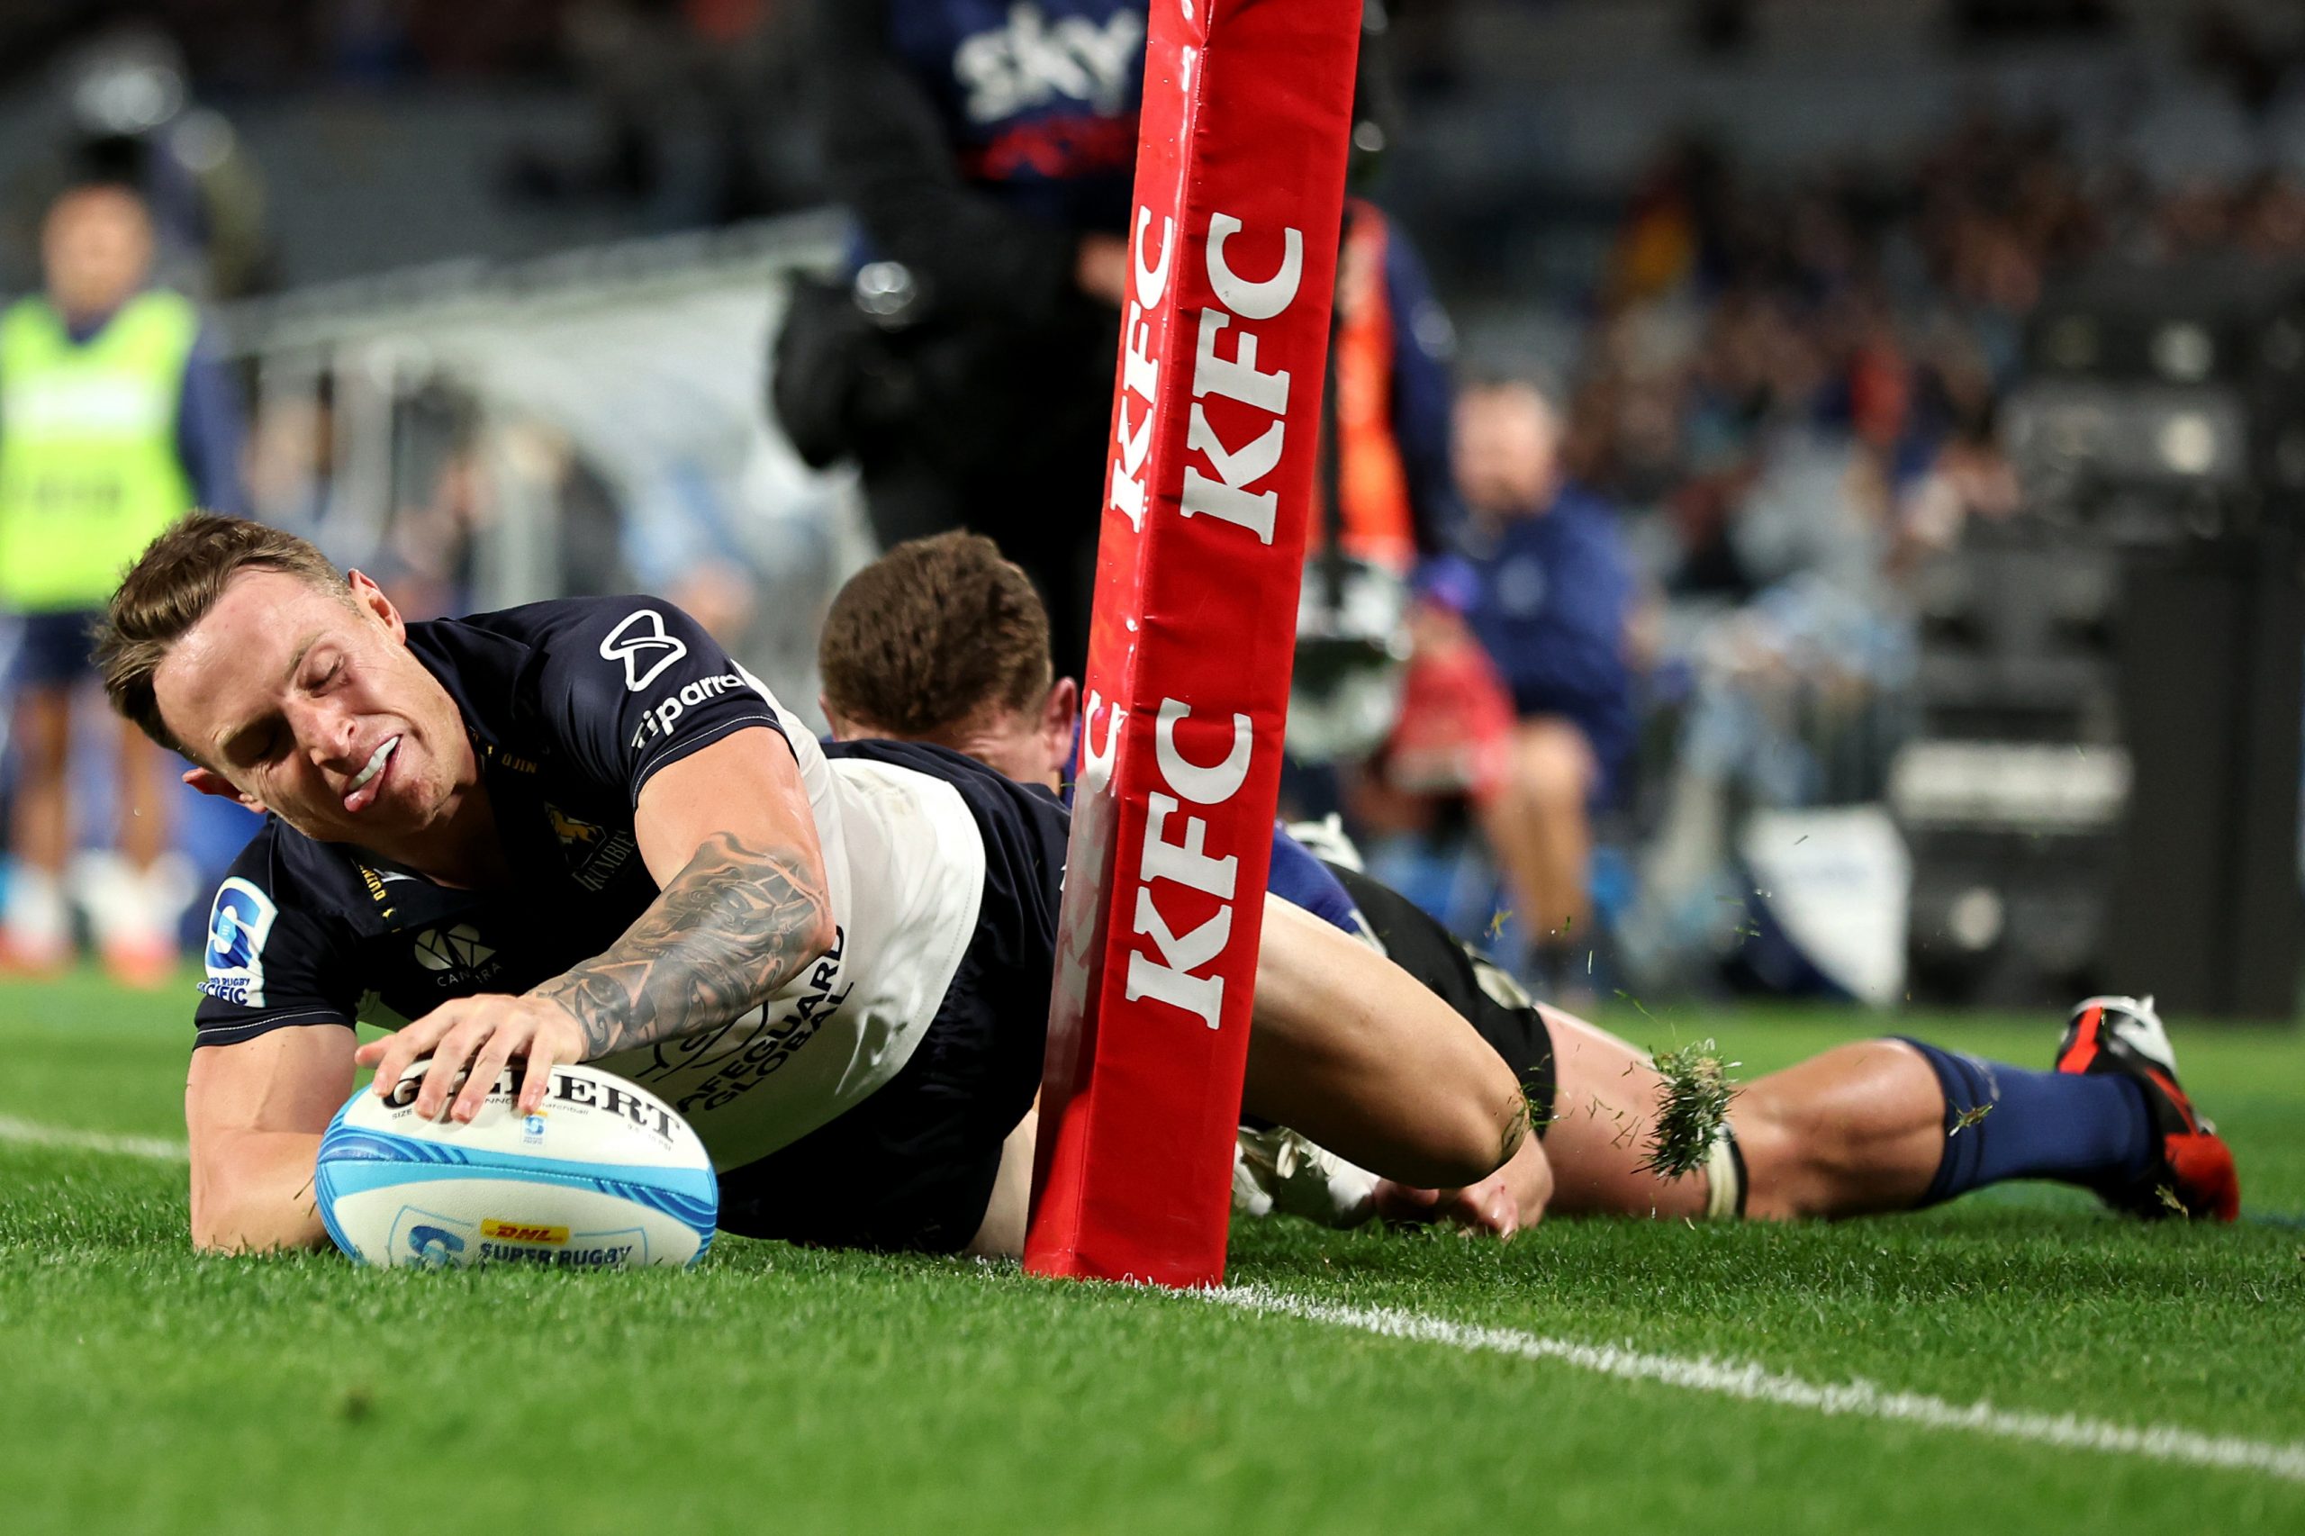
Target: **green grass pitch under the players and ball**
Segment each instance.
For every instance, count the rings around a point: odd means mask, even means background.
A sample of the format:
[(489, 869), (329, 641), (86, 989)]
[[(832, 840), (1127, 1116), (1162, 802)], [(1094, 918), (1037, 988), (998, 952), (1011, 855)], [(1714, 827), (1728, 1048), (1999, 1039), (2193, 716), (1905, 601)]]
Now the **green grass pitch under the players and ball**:
[[(2049, 1188), (1510, 1245), (1272, 1222), (1235, 1229), (1226, 1305), (733, 1238), (694, 1273), (196, 1259), (180, 1162), (32, 1139), (180, 1139), (187, 1012), (0, 987), (0, 1529), (2305, 1531), (2296, 1033), (2174, 1019), (2238, 1229)], [(1876, 1029), (1696, 1024), (1747, 1075)], [(1611, 1345), (1653, 1358), (1572, 1349)], [(2153, 1460), (2068, 1414), (2250, 1444)]]

